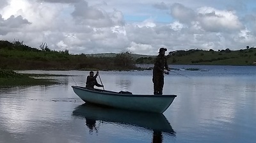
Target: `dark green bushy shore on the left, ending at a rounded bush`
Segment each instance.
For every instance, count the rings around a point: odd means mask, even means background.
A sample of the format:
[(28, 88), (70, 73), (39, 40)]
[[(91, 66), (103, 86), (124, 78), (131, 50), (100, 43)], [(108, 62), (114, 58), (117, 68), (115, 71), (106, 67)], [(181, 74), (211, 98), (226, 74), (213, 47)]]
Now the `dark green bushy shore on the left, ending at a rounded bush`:
[(132, 52), (123, 51), (115, 57), (93, 57), (69, 54), (68, 50), (51, 50), (47, 43), (39, 49), (23, 41), (0, 40), (0, 68), (11, 70), (131, 70), (137, 69)]

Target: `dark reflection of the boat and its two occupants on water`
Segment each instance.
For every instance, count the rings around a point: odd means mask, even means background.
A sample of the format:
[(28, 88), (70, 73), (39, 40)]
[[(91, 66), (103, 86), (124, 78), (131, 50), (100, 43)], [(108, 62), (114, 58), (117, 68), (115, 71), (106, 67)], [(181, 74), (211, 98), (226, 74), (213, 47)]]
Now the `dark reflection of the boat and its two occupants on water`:
[(163, 142), (163, 133), (170, 136), (176, 134), (166, 117), (159, 113), (98, 107), (84, 103), (76, 107), (72, 115), (85, 118), (89, 132), (93, 132), (93, 130), (99, 132), (96, 121), (100, 121), (100, 123), (115, 123), (129, 126), (129, 128), (142, 128), (143, 130), (152, 131), (152, 142)]

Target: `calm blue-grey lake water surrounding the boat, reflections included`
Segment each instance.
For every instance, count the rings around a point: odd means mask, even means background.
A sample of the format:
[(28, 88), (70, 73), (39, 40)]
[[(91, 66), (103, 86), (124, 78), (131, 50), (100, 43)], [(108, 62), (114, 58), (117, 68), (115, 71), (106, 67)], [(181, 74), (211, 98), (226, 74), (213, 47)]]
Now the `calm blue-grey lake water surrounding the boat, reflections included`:
[[(163, 93), (177, 98), (163, 115), (84, 105), (71, 86), (84, 86), (86, 71), (19, 71), (74, 76), (46, 77), (60, 85), (0, 87), (0, 143), (255, 142), (256, 66), (171, 67), (181, 70), (165, 76)], [(153, 93), (152, 71), (100, 78), (107, 90)]]

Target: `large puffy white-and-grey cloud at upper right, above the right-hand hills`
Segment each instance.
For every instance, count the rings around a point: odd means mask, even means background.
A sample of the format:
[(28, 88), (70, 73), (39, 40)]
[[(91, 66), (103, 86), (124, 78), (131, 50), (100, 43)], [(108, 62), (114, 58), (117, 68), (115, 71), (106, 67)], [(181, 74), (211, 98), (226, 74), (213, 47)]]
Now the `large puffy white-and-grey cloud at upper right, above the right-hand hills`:
[(216, 10), (205, 6), (191, 10), (182, 4), (175, 3), (172, 5), (171, 14), (183, 24), (194, 25), (209, 32), (231, 32), (244, 29), (234, 11)]

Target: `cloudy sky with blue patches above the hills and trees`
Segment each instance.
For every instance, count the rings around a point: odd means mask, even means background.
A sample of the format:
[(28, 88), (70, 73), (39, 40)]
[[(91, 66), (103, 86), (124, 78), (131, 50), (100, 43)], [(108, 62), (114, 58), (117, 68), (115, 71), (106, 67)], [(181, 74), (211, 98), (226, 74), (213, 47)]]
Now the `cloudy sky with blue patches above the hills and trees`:
[(0, 40), (71, 54), (256, 47), (255, 0), (0, 0)]

